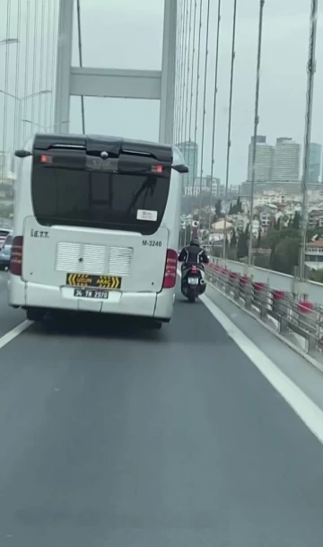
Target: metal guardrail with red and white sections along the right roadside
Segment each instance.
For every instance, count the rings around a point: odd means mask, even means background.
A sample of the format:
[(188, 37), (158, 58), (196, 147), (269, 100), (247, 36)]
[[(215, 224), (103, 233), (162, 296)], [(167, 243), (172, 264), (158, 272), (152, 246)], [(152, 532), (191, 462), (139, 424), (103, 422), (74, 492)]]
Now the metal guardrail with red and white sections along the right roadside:
[(208, 264), (206, 280), (225, 296), (276, 331), (289, 345), (323, 365), (323, 307), (301, 301), (290, 291), (240, 274), (220, 264)]

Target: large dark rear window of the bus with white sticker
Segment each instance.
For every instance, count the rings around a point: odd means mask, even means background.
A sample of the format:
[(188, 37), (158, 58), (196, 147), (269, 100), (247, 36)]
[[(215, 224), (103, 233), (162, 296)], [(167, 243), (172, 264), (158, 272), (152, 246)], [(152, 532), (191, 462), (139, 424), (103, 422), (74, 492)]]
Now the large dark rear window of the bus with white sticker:
[[(34, 164), (31, 196), (40, 225), (154, 234), (162, 222), (170, 175), (116, 174)], [(148, 211), (143, 220), (141, 211)]]

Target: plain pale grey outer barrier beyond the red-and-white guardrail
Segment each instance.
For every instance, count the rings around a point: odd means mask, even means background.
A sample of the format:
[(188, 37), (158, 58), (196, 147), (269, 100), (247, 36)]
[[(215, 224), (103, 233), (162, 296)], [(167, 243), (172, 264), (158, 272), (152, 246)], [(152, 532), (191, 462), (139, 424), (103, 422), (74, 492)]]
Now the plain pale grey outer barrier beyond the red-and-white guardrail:
[[(214, 257), (210, 257), (210, 260), (213, 264), (231, 269), (231, 271), (240, 275), (248, 275), (255, 281), (266, 283), (274, 289), (284, 290), (289, 293), (293, 292), (295, 280), (292, 276), (287, 274), (274, 271), (273, 269), (258, 268), (257, 266), (251, 266), (249, 268), (247, 264), (235, 262), (234, 260), (223, 260)], [(323, 306), (323, 284), (317, 283), (316, 281), (307, 281), (304, 286), (304, 292), (310, 302)]]

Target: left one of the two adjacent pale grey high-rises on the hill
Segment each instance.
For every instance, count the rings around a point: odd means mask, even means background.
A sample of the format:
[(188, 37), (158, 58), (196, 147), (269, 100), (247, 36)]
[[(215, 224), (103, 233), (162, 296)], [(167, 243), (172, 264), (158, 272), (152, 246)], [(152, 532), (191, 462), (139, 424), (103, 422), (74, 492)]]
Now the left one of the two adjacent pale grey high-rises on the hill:
[[(251, 137), (248, 154), (248, 180), (252, 179), (254, 137)], [(274, 146), (266, 143), (266, 136), (258, 135), (256, 145), (255, 181), (270, 181), (273, 171)]]

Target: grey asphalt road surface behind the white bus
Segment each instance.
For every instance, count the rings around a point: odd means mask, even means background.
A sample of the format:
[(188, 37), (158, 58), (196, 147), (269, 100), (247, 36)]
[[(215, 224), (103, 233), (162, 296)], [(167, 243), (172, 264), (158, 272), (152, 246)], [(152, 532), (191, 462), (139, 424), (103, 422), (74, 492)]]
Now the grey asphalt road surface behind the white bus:
[(322, 446), (201, 303), (32, 325), (0, 435), (2, 547), (322, 547)]

